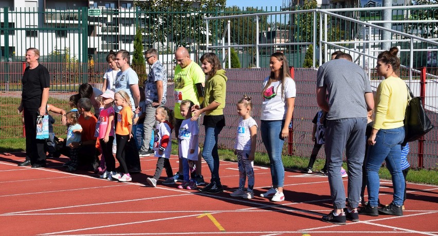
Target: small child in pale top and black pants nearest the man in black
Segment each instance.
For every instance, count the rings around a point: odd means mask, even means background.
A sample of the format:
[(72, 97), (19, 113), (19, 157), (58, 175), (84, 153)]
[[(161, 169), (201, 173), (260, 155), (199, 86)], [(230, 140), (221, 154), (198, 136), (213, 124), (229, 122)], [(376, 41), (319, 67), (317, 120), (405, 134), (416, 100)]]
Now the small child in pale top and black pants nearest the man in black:
[[(68, 161), (63, 166), (67, 168), (67, 171), (76, 171), (78, 167), (78, 149), (72, 148), (72, 142), (80, 142), (81, 141), (81, 133), (82, 126), (78, 123), (79, 114), (77, 112), (69, 112), (67, 113), (66, 124), (67, 128), (67, 138), (65, 140), (65, 147), (70, 149), (70, 161)], [(59, 138), (62, 142), (64, 139)]]

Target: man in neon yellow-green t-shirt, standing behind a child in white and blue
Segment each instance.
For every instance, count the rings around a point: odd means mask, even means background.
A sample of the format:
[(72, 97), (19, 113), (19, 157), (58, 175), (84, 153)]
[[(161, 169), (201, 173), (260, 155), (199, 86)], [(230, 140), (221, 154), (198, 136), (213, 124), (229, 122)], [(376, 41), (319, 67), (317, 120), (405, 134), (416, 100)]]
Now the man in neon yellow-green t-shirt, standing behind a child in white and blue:
[[(199, 105), (199, 100), (204, 98), (204, 83), (205, 75), (200, 66), (190, 59), (189, 51), (185, 47), (179, 47), (175, 51), (175, 136), (178, 137), (181, 122), (185, 119), (181, 116), (179, 105), (182, 100), (191, 100), (193, 103)], [(205, 184), (204, 178), (201, 174), (201, 160), (199, 155), (196, 163), (196, 182), (198, 185)], [(182, 179), (182, 161), (179, 162), (178, 172), (174, 175), (175, 181)]]

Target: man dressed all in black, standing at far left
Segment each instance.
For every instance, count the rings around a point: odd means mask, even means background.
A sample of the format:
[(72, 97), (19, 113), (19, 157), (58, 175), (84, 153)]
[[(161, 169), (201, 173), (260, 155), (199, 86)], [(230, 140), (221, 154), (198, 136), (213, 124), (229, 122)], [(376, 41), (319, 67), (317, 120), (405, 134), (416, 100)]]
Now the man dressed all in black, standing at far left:
[(30, 160), (26, 159), (19, 166), (41, 168), (46, 166), (44, 139), (36, 139), (36, 117), (47, 113), (50, 78), (46, 67), (38, 62), (40, 51), (36, 48), (26, 50), (28, 67), (24, 70), (22, 85), (23, 92), (19, 113), (23, 112), (26, 131), (26, 151)]

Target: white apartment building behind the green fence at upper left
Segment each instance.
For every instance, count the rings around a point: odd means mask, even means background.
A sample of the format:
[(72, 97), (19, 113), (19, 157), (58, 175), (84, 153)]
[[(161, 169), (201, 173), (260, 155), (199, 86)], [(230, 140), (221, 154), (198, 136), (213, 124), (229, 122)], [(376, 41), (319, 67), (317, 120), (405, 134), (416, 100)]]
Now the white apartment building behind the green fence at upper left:
[[(44, 56), (69, 50), (77, 58), (133, 51), (136, 23), (144, 24), (133, 0), (0, 0), (0, 7), (0, 56), (14, 61), (29, 47), (39, 48)], [(100, 9), (101, 14), (84, 17), (88, 9)]]

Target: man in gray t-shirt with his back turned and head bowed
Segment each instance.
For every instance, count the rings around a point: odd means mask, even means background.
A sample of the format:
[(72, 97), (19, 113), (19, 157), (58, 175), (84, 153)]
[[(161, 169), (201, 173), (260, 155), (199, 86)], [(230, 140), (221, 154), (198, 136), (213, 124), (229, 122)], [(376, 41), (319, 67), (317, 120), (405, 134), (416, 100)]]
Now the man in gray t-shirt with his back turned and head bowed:
[[(374, 100), (370, 81), (363, 69), (353, 63), (348, 54), (341, 53), (336, 58), (337, 60), (331, 60), (319, 67), (316, 86), (318, 105), (327, 113), (326, 168), (335, 208), (330, 214), (323, 216), (322, 220), (345, 224), (345, 219), (359, 219), (357, 207), (362, 185), (367, 112), (373, 109)], [(326, 93), (328, 102), (325, 99)], [(345, 212), (345, 191), (340, 173), (344, 149), (349, 170), (349, 206)]]

